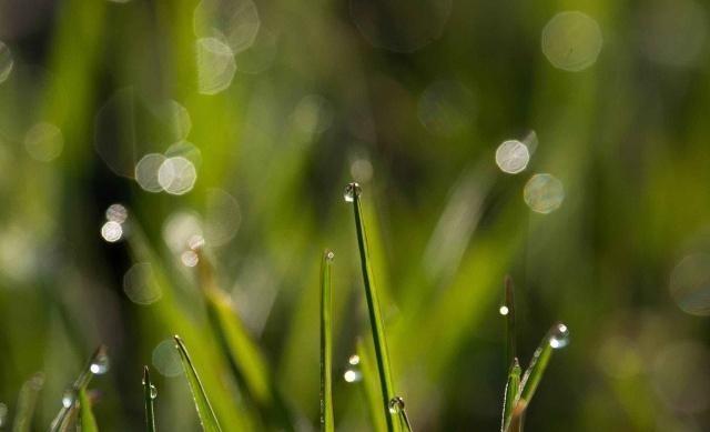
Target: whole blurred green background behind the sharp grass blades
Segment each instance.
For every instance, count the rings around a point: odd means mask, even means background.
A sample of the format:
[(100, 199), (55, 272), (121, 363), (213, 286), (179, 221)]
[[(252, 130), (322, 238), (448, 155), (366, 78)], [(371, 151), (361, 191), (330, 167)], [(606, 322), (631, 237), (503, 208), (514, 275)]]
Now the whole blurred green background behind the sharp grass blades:
[[(159, 428), (196, 430), (161, 345), (180, 333), (233, 430), (244, 398), (191, 268), (203, 238), (300, 431), (318, 425), (318, 265), (335, 251), (337, 430), (372, 430), (363, 382), (343, 380), (371, 340), (343, 202), (356, 180), (415, 430), (499, 429), (505, 274), (524, 363), (551, 323), (571, 330), (526, 430), (710, 430), (709, 13), (699, 0), (0, 2), (6, 428), (42, 371), (45, 430), (103, 342), (102, 430), (142, 428), (143, 364)], [(520, 153), (496, 163), (506, 140)], [(557, 181), (536, 189), (538, 173)]]

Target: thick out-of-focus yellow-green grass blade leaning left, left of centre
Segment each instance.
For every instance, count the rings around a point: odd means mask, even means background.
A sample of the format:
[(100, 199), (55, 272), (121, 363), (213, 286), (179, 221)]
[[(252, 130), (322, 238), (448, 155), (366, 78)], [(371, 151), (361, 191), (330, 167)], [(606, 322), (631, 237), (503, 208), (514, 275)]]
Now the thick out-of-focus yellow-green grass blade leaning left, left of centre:
[(290, 410), (273, 382), (266, 359), (236, 314), (231, 297), (217, 285), (207, 257), (202, 250), (197, 252), (200, 284), (210, 322), (237, 381), (244, 384), (267, 423), (283, 430), (293, 430)]

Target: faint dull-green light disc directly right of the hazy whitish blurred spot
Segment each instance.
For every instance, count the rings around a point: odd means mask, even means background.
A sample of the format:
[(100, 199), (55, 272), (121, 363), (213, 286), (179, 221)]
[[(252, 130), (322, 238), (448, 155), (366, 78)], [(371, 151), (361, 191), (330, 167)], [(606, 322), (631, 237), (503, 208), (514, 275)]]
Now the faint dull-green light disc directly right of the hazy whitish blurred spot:
[(205, 240), (211, 247), (224, 245), (236, 235), (242, 222), (240, 205), (234, 197), (221, 189), (207, 190), (206, 201)]

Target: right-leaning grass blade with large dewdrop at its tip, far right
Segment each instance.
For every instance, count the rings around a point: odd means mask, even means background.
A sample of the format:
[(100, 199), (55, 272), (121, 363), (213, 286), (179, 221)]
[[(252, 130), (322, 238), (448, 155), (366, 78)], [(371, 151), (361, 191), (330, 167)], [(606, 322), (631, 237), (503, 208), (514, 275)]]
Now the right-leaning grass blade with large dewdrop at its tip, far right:
[[(523, 379), (520, 380), (520, 391), (513, 404), (513, 411), (506, 421), (505, 431), (514, 431), (511, 428), (518, 422), (523, 422), (523, 416), (530, 403), (530, 400), (535, 395), (545, 370), (552, 356), (552, 351), (566, 346), (569, 343), (569, 329), (561, 322), (556, 323), (547, 332), (540, 345), (535, 350), (532, 360), (528, 369), (525, 371)], [(521, 430), (520, 425), (520, 430)]]

